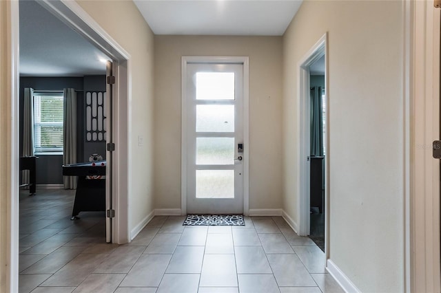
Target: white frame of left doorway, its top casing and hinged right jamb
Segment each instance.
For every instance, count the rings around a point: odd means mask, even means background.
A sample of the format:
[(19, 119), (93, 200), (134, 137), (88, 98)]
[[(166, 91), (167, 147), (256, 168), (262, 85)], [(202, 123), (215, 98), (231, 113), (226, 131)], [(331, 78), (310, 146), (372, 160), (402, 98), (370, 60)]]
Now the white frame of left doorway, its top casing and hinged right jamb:
[[(106, 240), (112, 243), (126, 243), (129, 238), (127, 217), (129, 193), (127, 190), (130, 175), (127, 172), (126, 164), (118, 164), (118, 162), (127, 162), (130, 159), (128, 157), (130, 152), (127, 145), (127, 142), (130, 141), (127, 134), (130, 133), (128, 131), (129, 123), (127, 119), (130, 116), (128, 113), (128, 105), (130, 105), (130, 96), (128, 94), (130, 55), (98, 23), (90, 21), (90, 16), (76, 3), (44, 0), (39, 1), (39, 4), (112, 60), (112, 63), (106, 63), (106, 74), (111, 72), (114, 80), (116, 80), (116, 83), (112, 85), (112, 89), (109, 89), (108, 83), (105, 89), (107, 92), (112, 91), (112, 96), (107, 97), (107, 109), (105, 110), (107, 111), (107, 116), (111, 118), (106, 119), (105, 122), (107, 128), (106, 143), (114, 143), (118, 147), (114, 151), (109, 151), (108, 147), (105, 148), (105, 156), (107, 158), (106, 174), (110, 174), (112, 177), (110, 180), (106, 180), (106, 209), (112, 206), (114, 210), (114, 217), (111, 218), (112, 225), (109, 225), (109, 220), (106, 219), (107, 235), (111, 235), (111, 237), (107, 236)], [(109, 69), (109, 66), (112, 69)], [(109, 162), (109, 158), (111, 158), (112, 162)], [(112, 194), (110, 194), (110, 191), (112, 191)], [(120, 206), (121, 208), (119, 208)]]

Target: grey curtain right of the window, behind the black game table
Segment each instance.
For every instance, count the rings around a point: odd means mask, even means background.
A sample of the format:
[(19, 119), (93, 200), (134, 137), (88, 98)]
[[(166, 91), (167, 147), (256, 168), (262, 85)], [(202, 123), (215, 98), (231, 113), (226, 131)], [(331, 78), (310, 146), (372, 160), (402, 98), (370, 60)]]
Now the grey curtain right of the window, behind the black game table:
[[(76, 92), (63, 90), (63, 164), (76, 163)], [(76, 176), (64, 176), (64, 188), (76, 188)]]

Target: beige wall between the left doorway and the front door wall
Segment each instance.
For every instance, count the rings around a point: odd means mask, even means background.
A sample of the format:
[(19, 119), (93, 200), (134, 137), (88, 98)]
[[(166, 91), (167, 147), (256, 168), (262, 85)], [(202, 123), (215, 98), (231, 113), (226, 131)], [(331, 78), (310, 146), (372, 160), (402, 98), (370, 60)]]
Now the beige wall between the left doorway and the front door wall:
[[(78, 1), (112, 38), (130, 54), (132, 115), (129, 117), (130, 230), (154, 210), (153, 95), (154, 36), (132, 1)], [(122, 97), (127, 98), (127, 97)], [(143, 138), (139, 146), (138, 138)], [(118, 146), (116, 146), (118, 147)], [(125, 196), (125, 195), (123, 195)]]

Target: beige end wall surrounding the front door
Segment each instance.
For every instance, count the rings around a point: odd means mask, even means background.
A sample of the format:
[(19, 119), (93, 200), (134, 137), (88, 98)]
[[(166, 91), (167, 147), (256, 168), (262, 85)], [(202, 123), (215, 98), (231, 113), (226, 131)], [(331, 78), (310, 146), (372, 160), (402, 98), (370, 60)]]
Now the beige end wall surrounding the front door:
[(155, 36), (156, 208), (181, 208), (181, 56), (249, 56), (249, 208), (282, 208), (282, 38)]

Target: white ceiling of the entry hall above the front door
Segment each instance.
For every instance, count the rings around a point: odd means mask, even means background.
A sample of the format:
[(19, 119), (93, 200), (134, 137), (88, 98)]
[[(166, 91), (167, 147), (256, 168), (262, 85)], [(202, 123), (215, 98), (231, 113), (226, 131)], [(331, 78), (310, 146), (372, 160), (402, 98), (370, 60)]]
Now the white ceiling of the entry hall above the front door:
[(154, 34), (281, 36), (302, 0), (134, 0)]

